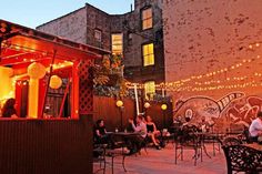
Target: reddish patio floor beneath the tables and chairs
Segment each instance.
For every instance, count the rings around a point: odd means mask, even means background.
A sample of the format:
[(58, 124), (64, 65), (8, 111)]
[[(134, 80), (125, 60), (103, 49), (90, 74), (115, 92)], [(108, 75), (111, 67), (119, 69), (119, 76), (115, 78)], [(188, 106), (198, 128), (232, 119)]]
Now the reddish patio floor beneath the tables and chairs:
[[(226, 162), (223, 151), (216, 151), (215, 156), (213, 156), (212, 145), (206, 144), (206, 152), (211, 158), (203, 153), (203, 162), (199, 160), (198, 165), (194, 166), (192, 160), (193, 151), (185, 150), (184, 160), (178, 160), (175, 165), (172, 143), (169, 143), (162, 150), (148, 147), (148, 154), (142, 150), (141, 155), (127, 156), (125, 168), (128, 172), (124, 172), (122, 168), (121, 157), (117, 157), (114, 174), (225, 174)], [(110, 158), (107, 160), (110, 162)], [(98, 164), (94, 164), (94, 170), (98, 166)], [(111, 174), (110, 163), (107, 165), (107, 174)]]

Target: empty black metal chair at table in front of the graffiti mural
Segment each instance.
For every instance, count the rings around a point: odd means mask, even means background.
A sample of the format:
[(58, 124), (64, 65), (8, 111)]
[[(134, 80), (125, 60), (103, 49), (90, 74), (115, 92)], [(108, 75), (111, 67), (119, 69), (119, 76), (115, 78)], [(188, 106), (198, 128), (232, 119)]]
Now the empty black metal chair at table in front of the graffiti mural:
[[(175, 164), (178, 163), (178, 158), (181, 157), (181, 161), (183, 161), (183, 151), (184, 150), (193, 150), (194, 151), (194, 165), (196, 165), (196, 161), (200, 157), (201, 162), (203, 161), (202, 156), (202, 142), (201, 137), (196, 134), (198, 129), (196, 126), (182, 126), (181, 130), (178, 133), (178, 136), (175, 139)], [(178, 152), (180, 150), (180, 152)]]

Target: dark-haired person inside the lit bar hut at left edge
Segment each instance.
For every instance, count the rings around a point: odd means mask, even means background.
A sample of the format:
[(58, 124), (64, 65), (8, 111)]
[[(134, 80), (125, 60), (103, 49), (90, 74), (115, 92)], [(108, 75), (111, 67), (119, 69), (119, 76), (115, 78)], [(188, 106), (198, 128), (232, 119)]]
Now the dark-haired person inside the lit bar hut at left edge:
[(16, 99), (11, 98), (7, 100), (2, 108), (2, 117), (18, 117), (16, 110)]

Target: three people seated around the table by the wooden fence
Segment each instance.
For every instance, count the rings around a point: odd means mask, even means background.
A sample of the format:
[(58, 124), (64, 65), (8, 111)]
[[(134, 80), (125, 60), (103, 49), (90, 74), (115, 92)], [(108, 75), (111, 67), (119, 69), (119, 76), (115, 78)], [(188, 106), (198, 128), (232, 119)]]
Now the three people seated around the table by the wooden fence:
[[(151, 140), (157, 150), (161, 150), (159, 136), (160, 131), (157, 129), (155, 123), (152, 121), (150, 115), (143, 117), (143, 115), (138, 115), (135, 117), (135, 123), (133, 119), (129, 119), (129, 124), (132, 132), (138, 134), (130, 136), (127, 141), (127, 147), (130, 150), (130, 154), (139, 152), (145, 142), (145, 139)], [(98, 120), (94, 126), (94, 141), (95, 143), (112, 143), (107, 134), (107, 129), (104, 126), (103, 120)]]

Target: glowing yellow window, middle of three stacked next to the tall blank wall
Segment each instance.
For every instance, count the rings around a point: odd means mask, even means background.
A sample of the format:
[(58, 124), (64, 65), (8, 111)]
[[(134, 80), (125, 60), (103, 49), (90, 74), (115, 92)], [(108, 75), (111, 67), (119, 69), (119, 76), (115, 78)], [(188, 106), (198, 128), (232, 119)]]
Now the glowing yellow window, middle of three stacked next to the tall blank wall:
[(153, 43), (143, 45), (143, 66), (154, 65)]

